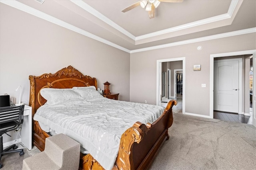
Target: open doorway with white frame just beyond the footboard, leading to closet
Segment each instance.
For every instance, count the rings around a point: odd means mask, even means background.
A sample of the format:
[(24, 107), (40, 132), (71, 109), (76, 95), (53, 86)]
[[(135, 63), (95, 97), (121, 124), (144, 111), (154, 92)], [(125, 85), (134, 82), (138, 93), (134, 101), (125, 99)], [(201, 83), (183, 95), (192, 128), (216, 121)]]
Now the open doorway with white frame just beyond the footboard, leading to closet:
[[(185, 113), (185, 58), (157, 61), (156, 105), (166, 107), (170, 100), (177, 100), (176, 112)], [(178, 71), (178, 72), (177, 72)], [(176, 74), (178, 74), (178, 82)], [(182, 83), (182, 84), (181, 84)], [(163, 89), (164, 88), (164, 89)], [(177, 98), (178, 93), (178, 98)]]

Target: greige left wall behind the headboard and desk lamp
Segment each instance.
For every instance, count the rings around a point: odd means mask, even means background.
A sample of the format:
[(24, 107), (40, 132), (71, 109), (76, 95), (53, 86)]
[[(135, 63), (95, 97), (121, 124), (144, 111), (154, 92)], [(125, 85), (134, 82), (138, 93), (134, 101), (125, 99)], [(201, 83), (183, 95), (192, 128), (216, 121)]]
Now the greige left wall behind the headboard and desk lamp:
[[(22, 102), (28, 105), (29, 75), (55, 73), (66, 66), (96, 77), (98, 87), (111, 83), (110, 91), (130, 100), (130, 54), (100, 43), (5, 4), (0, 5), (0, 94), (21, 85)], [(12, 135), (12, 133), (10, 133)], [(19, 138), (19, 136), (18, 136)], [(4, 135), (4, 143), (16, 139)]]

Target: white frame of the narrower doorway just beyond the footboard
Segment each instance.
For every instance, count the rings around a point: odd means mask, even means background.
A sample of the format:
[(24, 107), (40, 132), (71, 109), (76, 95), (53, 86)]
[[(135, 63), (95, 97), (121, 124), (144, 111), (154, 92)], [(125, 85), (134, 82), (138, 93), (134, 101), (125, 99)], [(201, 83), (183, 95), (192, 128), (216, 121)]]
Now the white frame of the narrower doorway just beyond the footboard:
[(156, 61), (156, 105), (161, 106), (161, 76), (162, 76), (162, 63), (170, 61), (182, 61), (182, 76), (183, 76), (183, 88), (182, 88), (182, 113), (185, 113), (185, 91), (186, 91), (186, 57), (173, 58), (173, 59), (162, 59)]

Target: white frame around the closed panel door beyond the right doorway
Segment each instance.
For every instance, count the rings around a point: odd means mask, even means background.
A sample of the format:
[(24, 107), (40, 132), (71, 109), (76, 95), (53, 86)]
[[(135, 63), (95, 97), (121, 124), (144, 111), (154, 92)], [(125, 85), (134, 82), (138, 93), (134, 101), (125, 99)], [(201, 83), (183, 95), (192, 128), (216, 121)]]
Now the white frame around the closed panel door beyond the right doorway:
[[(217, 57), (214, 57), (217, 58)], [(217, 61), (238, 61), (238, 114), (242, 114), (242, 58), (223, 59)], [(214, 61), (213, 61), (214, 63)], [(214, 76), (214, 75), (213, 75)], [(214, 84), (214, 82), (213, 82)], [(214, 93), (214, 92), (213, 92)], [(212, 117), (213, 118), (213, 117)]]

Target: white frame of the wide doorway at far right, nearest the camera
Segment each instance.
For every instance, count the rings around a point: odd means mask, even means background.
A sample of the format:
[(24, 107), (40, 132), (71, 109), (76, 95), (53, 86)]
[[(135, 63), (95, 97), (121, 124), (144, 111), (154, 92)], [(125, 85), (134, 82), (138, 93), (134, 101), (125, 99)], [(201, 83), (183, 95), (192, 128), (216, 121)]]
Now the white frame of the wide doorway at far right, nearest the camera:
[[(213, 119), (213, 72), (214, 72), (214, 58), (216, 57), (228, 57), (228, 56), (235, 56), (235, 55), (253, 55), (253, 69), (256, 70), (256, 49), (254, 50), (247, 50), (247, 51), (236, 51), (236, 52), (229, 52), (229, 53), (219, 53), (219, 54), (211, 54), (210, 55), (210, 118)], [(253, 88), (252, 88), (252, 95), (255, 100), (256, 97), (256, 73), (253, 72)], [(256, 103), (252, 103), (252, 124), (256, 127)]]

